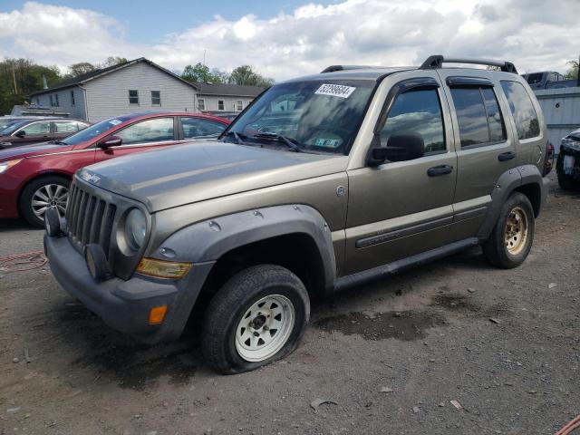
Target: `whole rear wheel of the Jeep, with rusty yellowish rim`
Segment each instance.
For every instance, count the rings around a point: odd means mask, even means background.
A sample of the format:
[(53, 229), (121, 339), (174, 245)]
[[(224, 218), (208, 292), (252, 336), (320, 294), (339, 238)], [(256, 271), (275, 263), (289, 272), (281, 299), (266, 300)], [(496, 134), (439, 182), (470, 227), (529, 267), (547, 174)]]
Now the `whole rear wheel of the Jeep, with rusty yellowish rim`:
[(534, 209), (526, 195), (514, 192), (501, 208), (483, 254), (493, 266), (510, 269), (522, 264), (534, 241)]

